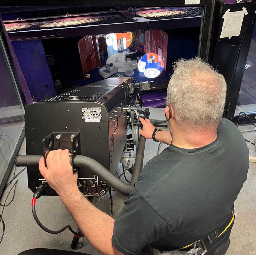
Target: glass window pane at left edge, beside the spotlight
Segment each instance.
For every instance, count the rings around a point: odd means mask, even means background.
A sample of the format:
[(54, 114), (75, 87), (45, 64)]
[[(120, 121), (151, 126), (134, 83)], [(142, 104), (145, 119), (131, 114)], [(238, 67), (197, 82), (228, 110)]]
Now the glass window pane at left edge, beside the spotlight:
[(0, 184), (24, 127), (24, 108), (0, 35)]

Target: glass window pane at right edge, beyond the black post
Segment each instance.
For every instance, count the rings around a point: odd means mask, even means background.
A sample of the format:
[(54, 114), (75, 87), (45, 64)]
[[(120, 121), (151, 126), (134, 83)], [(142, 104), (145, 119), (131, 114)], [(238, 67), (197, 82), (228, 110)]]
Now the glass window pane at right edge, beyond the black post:
[(256, 26), (245, 64), (235, 115), (256, 112)]

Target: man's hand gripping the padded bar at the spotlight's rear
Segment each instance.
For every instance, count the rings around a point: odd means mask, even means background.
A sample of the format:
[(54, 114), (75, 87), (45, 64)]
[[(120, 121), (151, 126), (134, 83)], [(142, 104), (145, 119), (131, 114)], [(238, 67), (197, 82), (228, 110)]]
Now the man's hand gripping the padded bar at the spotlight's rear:
[(61, 197), (72, 196), (78, 191), (77, 173), (72, 172), (70, 165), (69, 150), (53, 150), (49, 152), (45, 167), (44, 157), (39, 161), (41, 175), (47, 180), (48, 184)]

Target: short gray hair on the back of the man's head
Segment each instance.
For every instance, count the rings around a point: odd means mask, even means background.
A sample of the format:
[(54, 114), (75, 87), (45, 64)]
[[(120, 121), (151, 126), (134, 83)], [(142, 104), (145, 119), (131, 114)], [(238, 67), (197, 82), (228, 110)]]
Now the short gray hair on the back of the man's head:
[(223, 75), (199, 57), (181, 59), (167, 88), (166, 105), (172, 105), (180, 129), (217, 127), (227, 94)]

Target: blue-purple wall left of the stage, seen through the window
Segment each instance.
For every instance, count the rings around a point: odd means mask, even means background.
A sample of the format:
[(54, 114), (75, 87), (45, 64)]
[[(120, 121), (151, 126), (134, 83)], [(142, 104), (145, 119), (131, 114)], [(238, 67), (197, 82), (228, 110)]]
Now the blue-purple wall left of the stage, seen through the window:
[(41, 40), (12, 41), (31, 96), (48, 99), (56, 95)]

